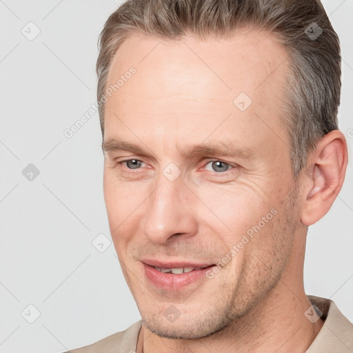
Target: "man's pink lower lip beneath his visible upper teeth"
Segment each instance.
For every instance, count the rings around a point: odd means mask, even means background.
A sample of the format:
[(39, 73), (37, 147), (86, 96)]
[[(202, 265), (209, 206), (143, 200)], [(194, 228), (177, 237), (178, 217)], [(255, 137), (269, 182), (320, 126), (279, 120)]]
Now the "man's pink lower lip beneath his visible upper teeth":
[(212, 266), (209, 266), (208, 268), (203, 268), (202, 270), (193, 270), (187, 273), (173, 274), (157, 271), (153, 266), (146, 265), (145, 263), (143, 263), (143, 267), (145, 268), (145, 275), (150, 282), (163, 290), (180, 290), (191, 283), (205, 278), (205, 273), (212, 268)]

